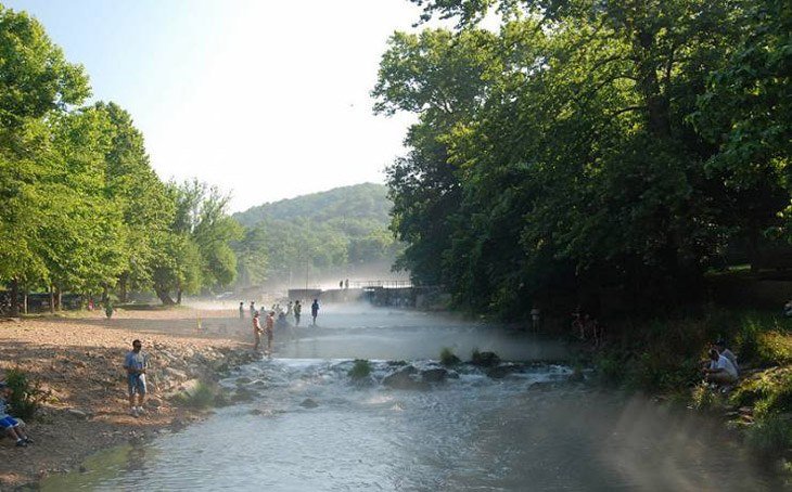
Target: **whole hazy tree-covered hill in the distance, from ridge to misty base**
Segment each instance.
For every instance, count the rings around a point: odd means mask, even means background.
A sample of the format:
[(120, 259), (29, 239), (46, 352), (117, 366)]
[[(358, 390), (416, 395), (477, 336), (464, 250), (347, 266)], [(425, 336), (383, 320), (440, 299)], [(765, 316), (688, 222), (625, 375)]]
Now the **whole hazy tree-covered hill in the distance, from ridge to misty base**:
[(239, 285), (387, 272), (401, 246), (388, 231), (386, 193), (382, 184), (363, 183), (237, 213), (245, 226), (233, 245)]

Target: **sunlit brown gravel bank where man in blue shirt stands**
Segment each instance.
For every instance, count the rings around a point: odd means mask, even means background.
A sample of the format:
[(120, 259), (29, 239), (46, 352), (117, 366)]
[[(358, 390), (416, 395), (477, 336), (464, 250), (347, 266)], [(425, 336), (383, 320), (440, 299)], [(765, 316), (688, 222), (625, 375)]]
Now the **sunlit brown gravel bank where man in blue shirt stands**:
[[(0, 491), (37, 482), (77, 466), (108, 446), (146, 439), (167, 427), (201, 418), (168, 400), (195, 378), (250, 357), (247, 323), (237, 311), (120, 311), (79, 318), (0, 321), (0, 379), (18, 367), (41, 381), (51, 398), (29, 433), (28, 448), (0, 440)], [(140, 338), (151, 358), (148, 413), (127, 413), (124, 354)]]

